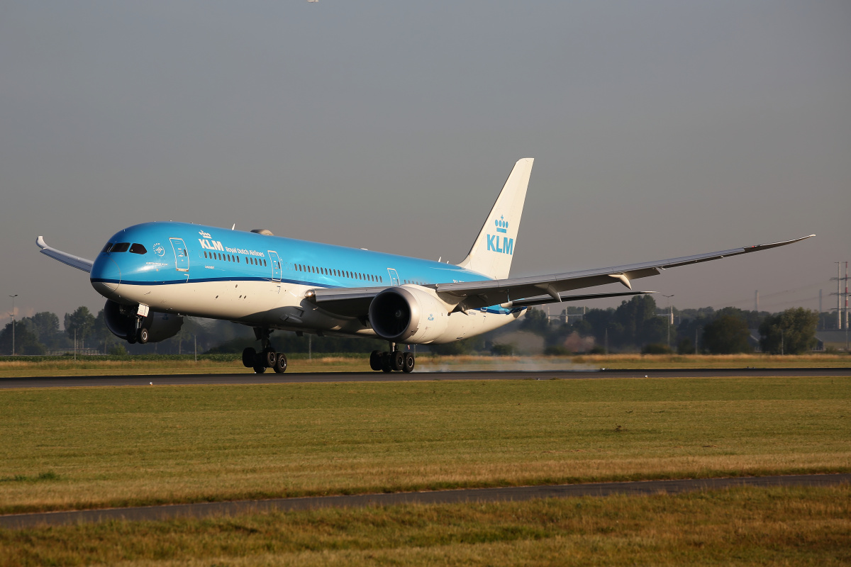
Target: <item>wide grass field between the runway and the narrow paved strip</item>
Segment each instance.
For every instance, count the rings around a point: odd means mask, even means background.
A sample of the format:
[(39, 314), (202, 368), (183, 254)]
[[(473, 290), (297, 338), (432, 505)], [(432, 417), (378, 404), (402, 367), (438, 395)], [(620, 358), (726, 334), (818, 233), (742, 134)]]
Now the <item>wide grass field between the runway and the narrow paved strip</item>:
[(0, 513), (848, 472), (849, 400), (842, 377), (7, 389)]

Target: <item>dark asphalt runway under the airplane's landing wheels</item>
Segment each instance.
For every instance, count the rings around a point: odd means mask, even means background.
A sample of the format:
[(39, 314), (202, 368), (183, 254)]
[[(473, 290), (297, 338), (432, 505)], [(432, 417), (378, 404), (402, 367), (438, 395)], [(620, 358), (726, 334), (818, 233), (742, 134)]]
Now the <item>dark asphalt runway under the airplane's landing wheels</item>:
[(323, 382), (406, 382), (428, 380), (578, 380), (643, 377), (851, 377), (851, 368), (690, 368), (580, 371), (448, 371), (448, 372), (287, 372), (254, 374), (158, 374), (136, 376), (69, 376), (0, 378), (0, 388), (71, 388), (75, 386), (180, 386), (187, 384), (282, 384)]

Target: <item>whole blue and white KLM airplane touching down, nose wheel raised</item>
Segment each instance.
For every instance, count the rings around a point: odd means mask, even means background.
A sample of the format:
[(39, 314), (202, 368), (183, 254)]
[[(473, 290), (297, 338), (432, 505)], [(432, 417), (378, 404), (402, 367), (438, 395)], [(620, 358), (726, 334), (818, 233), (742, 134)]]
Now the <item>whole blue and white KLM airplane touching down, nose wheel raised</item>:
[[(41, 252), (89, 273), (106, 298), (106, 326), (128, 343), (173, 337), (185, 316), (230, 320), (254, 329), (260, 351), (243, 365), (287, 369), (271, 332), (379, 337), (374, 371), (414, 370), (401, 345), (450, 343), (504, 326), (534, 305), (648, 292), (631, 282), (677, 266), (759, 252), (802, 241), (733, 248), (654, 262), (509, 277), (533, 158), (519, 160), (459, 264), (300, 241), (269, 230), (149, 222), (119, 230), (93, 260), (49, 247)], [(630, 291), (571, 295), (620, 282)]]

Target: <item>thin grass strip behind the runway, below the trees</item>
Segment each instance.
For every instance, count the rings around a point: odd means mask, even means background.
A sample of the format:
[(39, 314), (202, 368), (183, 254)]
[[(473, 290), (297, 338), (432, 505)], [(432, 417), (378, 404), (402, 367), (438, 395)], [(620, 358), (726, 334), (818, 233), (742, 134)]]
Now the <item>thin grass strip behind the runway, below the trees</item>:
[[(417, 357), (417, 371), (528, 371), (598, 368), (790, 368), (848, 367), (848, 354), (591, 354), (577, 356), (431, 356)], [(367, 354), (289, 357), (291, 372), (368, 371)], [(0, 377), (88, 376), (122, 374), (219, 374), (252, 372), (237, 355), (0, 357)]]

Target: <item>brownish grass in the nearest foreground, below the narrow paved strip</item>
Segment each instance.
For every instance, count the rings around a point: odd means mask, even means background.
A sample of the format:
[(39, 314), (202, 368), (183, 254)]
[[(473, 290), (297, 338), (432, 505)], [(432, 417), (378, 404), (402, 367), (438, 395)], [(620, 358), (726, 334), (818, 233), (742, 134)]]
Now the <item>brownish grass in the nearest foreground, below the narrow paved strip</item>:
[(847, 565), (851, 487), (0, 530), (0, 564)]

